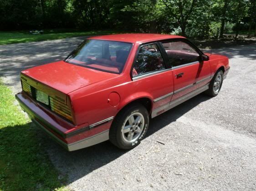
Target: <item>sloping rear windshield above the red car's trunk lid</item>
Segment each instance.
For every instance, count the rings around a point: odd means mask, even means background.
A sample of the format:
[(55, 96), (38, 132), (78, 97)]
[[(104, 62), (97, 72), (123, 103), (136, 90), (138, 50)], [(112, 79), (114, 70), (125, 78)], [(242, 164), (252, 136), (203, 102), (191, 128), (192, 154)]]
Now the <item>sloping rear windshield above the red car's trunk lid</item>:
[(64, 61), (105, 72), (121, 73), (132, 46), (124, 42), (85, 40)]

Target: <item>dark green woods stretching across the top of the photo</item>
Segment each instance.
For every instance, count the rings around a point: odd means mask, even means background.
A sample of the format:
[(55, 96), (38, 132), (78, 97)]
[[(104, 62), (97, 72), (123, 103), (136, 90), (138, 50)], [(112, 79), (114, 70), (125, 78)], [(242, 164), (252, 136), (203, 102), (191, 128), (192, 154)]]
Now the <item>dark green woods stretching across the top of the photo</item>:
[(0, 0), (0, 30), (121, 29), (222, 38), (256, 33), (256, 0)]

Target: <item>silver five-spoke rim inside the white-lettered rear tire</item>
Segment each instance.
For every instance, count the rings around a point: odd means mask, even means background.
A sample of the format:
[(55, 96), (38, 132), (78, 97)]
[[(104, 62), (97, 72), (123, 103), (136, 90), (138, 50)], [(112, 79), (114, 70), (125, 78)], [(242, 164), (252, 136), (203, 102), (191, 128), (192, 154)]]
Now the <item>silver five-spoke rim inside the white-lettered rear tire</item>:
[(126, 142), (134, 142), (142, 134), (144, 127), (144, 117), (141, 113), (131, 114), (123, 123), (123, 140)]

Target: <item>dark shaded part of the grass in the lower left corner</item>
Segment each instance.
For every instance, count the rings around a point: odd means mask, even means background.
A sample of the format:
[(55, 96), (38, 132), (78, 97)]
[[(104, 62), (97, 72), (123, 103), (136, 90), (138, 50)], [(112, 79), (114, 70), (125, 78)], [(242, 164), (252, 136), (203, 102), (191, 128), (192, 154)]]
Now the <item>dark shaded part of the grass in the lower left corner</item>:
[(44, 141), (31, 122), (0, 128), (0, 190), (53, 190), (61, 186), (66, 177), (58, 178)]

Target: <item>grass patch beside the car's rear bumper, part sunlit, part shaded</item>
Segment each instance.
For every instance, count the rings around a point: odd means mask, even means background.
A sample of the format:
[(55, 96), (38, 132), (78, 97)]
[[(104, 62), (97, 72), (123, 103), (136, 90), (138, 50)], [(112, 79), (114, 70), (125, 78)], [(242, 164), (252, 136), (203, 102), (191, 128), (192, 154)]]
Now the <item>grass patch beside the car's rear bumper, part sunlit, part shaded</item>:
[(25, 118), (0, 81), (0, 190), (65, 190), (38, 129)]

